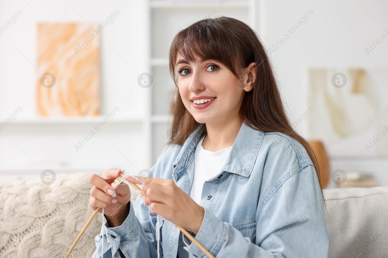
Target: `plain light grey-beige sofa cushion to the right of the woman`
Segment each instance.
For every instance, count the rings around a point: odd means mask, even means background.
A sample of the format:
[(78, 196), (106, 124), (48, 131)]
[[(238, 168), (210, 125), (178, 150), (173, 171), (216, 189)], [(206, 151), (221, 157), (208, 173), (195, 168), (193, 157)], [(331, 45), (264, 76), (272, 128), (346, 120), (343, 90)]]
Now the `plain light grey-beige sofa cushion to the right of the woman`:
[(388, 187), (328, 189), (329, 258), (388, 257)]

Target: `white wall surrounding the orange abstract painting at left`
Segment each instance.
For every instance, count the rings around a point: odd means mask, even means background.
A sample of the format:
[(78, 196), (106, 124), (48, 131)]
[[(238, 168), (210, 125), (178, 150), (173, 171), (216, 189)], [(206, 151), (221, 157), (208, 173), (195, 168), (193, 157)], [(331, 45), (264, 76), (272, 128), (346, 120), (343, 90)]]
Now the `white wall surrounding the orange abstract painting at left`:
[[(142, 120), (149, 113), (149, 89), (137, 85), (140, 73), (151, 72), (147, 1), (66, 1), (0, 1), (0, 26), (17, 10), (23, 12), (0, 35), (0, 121), (18, 106), (23, 108), (16, 121), (0, 132), (0, 175), (35, 177), (44, 169), (101, 173), (112, 167), (137, 174), (151, 165), (149, 155), (145, 155), (150, 150)], [(36, 92), (35, 79), (40, 77), (34, 68), (36, 23), (86, 20), (99, 25), (115, 10), (120, 14), (97, 36), (101, 49), (100, 114), (106, 116), (115, 106), (120, 112), (77, 152), (74, 144), (101, 118), (28, 121), (35, 116), (35, 97), (31, 96)]]

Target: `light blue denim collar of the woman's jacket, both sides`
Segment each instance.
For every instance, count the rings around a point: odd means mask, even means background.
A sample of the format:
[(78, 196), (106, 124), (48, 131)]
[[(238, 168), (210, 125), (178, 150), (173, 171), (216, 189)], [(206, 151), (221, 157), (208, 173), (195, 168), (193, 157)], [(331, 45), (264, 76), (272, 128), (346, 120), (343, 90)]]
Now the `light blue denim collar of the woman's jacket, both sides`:
[[(184, 142), (173, 163), (172, 176), (175, 181), (178, 181), (194, 159), (197, 143), (204, 133), (206, 133), (206, 126), (203, 124), (198, 126)], [(255, 130), (242, 123), (222, 172), (226, 171), (248, 178), (252, 173), (263, 138), (264, 132)]]

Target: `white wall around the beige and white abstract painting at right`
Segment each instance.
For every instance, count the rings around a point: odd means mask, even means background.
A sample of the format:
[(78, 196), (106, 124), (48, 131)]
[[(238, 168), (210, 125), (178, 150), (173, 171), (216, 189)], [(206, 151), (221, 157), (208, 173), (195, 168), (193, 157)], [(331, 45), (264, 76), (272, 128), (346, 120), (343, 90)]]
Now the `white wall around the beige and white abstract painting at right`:
[[(382, 33), (387, 35), (384, 32), (384, 29), (388, 30), (386, 1), (266, 0), (259, 3), (259, 6), (262, 14), (260, 32), (267, 47), (288, 33), (287, 29), (309, 10), (314, 12), (307, 23), (271, 56), (293, 121), (308, 108), (307, 68), (388, 68), (388, 39), (369, 55), (365, 51)], [(303, 123), (300, 130), (308, 137), (306, 126), (307, 123)], [(353, 164), (359, 156), (343, 153), (343, 157), (339, 157), (338, 154), (333, 156), (333, 152), (335, 150), (329, 150), (332, 156), (331, 171), (343, 169), (372, 172), (376, 176), (377, 185), (388, 185), (387, 157), (361, 157)]]

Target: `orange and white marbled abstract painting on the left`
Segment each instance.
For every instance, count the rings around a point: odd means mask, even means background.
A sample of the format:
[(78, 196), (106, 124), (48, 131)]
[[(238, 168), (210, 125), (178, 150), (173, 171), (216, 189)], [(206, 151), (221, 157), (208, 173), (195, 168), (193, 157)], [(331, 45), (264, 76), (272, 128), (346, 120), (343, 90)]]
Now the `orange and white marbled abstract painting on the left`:
[(38, 24), (36, 110), (39, 116), (99, 114), (100, 47), (95, 35), (93, 24)]

